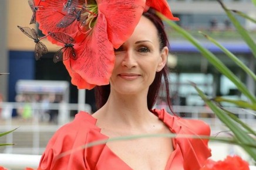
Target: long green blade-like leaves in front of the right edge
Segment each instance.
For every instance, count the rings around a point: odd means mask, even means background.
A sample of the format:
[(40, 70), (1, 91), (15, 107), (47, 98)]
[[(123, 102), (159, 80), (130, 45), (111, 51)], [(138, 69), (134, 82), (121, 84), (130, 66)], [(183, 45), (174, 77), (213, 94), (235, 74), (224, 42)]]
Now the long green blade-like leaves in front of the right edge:
[[(221, 106), (221, 103), (228, 102), (233, 103), (237, 107), (241, 107), (248, 110), (256, 110), (256, 96), (255, 93), (252, 93), (248, 90), (247, 86), (242, 82), (241, 79), (237, 77), (228, 67), (222, 63), (216, 55), (211, 53), (207, 48), (203, 47), (200, 42), (198, 41), (198, 37), (201, 36), (200, 39), (203, 39), (205, 37), (207, 40), (211, 41), (211, 43), (214, 43), (217, 47), (219, 47), (224, 54), (227, 55), (235, 64), (238, 65), (241, 70), (243, 70), (249, 77), (251, 77), (256, 82), (256, 75), (253, 71), (250, 70), (250, 68), (247, 67), (242, 61), (239, 60), (238, 57), (236, 57), (234, 54), (231, 53), (231, 51), (228, 51), (224, 46), (221, 45), (221, 43), (218, 43), (217, 39), (226, 39), (227, 40), (234, 40), (234, 39), (240, 39), (243, 40), (247, 46), (251, 50), (251, 54), (256, 58), (256, 44), (255, 44), (255, 37), (256, 32), (249, 32), (244, 28), (244, 26), (241, 25), (241, 23), (236, 19), (236, 15), (242, 16), (245, 19), (250, 20), (251, 22), (255, 23), (255, 19), (250, 18), (250, 16), (246, 15), (245, 13), (236, 11), (236, 10), (230, 10), (228, 9), (225, 4), (223, 4), (222, 1), (217, 0), (217, 2), (220, 4), (221, 8), (225, 11), (226, 15), (230, 19), (230, 22), (233, 24), (235, 30), (230, 31), (224, 31), (219, 32), (217, 30), (214, 31), (208, 31), (208, 30), (201, 30), (199, 33), (197, 31), (190, 31), (190, 30), (184, 30), (182, 27), (178, 26), (175, 22), (166, 19), (161, 13), (159, 13), (159, 16), (167, 23), (167, 25), (171, 26), (171, 29), (175, 30), (180, 36), (182, 36), (184, 39), (190, 41), (197, 49), (200, 51), (200, 53), (203, 55), (203, 57), (207, 58), (207, 60), (214, 65), (214, 67), (221, 72), (221, 74), (225, 75), (230, 81), (234, 83), (234, 85), (237, 87), (237, 89), (247, 98), (247, 100), (231, 100), (231, 99), (225, 99), (220, 96), (216, 98), (210, 98), (209, 96), (205, 95), (203, 91), (201, 91), (196, 84), (191, 82), (191, 85), (194, 86), (196, 91), (198, 92), (198, 95), (201, 96), (201, 98), (206, 102), (207, 106), (213, 110), (215, 115), (218, 117), (218, 119), (225, 124), (225, 126), (233, 133), (232, 140), (235, 144), (240, 145), (247, 153), (251, 156), (254, 161), (256, 161), (256, 131), (252, 129), (250, 126), (248, 126), (246, 123), (242, 122), (234, 113), (229, 112), (227, 109)], [(252, 0), (252, 3), (255, 4), (255, 0)], [(255, 9), (256, 10), (256, 9)], [(203, 36), (202, 36), (203, 34)], [(172, 36), (176, 35), (172, 33)], [(214, 37), (214, 38), (212, 38)], [(209, 137), (210, 140), (216, 140), (211, 137)], [(220, 140), (219, 140), (220, 141)], [(233, 144), (234, 144), (233, 143)]]

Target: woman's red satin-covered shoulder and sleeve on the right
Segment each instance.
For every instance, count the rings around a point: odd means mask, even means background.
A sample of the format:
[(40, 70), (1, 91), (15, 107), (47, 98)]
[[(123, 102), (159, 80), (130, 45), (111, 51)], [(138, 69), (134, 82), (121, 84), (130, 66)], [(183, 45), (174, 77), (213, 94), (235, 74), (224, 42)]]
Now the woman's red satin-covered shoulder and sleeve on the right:
[[(154, 109), (153, 113), (159, 116), (170, 130), (177, 134), (174, 138), (174, 148), (179, 152), (177, 159), (183, 161), (184, 169), (200, 169), (211, 150), (208, 147), (208, 139), (201, 139), (200, 136), (210, 136), (210, 126), (202, 120), (184, 119), (170, 115), (166, 110)], [(178, 137), (185, 135), (186, 137)], [(191, 137), (190, 137), (191, 136)]]

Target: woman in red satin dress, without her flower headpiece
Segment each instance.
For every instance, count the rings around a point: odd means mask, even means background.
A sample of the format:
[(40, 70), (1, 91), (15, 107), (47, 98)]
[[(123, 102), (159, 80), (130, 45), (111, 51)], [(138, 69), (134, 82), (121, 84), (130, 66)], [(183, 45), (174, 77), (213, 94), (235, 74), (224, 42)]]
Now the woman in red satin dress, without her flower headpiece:
[(150, 137), (83, 148), (93, 141), (139, 134), (210, 135), (199, 120), (152, 110), (161, 77), (167, 80), (167, 46), (161, 20), (152, 11), (144, 12), (129, 39), (114, 50), (110, 85), (96, 87), (100, 109), (93, 115), (79, 112), (61, 127), (39, 169), (200, 169), (211, 155), (207, 140)]

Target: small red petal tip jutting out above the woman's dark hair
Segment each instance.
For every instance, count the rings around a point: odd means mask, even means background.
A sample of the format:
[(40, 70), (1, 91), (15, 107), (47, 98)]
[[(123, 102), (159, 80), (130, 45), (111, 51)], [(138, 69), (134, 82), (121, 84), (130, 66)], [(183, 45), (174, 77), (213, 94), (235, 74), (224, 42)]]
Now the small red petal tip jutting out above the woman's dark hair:
[(145, 9), (149, 9), (149, 7), (154, 8), (156, 9), (156, 11), (161, 12), (164, 16), (166, 16), (170, 20), (180, 20), (177, 17), (173, 16), (173, 13), (171, 13), (171, 9), (166, 0), (157, 0), (157, 1), (147, 0)]

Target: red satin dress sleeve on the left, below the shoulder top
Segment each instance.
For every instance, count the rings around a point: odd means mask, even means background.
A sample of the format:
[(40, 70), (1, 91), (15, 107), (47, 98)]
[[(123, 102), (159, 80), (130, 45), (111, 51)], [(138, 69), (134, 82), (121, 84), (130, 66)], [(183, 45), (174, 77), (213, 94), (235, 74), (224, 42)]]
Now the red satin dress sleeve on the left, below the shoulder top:
[(79, 135), (78, 124), (67, 124), (61, 127), (46, 146), (39, 163), (39, 170), (47, 169), (89, 169), (86, 164), (86, 133)]

